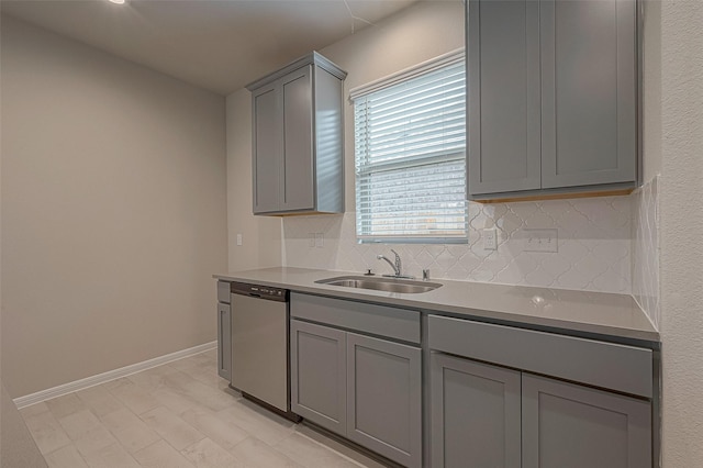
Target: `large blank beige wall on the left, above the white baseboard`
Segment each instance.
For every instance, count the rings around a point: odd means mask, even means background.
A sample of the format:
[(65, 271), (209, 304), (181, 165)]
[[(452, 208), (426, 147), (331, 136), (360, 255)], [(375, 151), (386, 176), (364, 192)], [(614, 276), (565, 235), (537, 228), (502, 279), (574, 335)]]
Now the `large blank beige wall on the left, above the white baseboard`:
[(224, 98), (2, 19), (13, 398), (215, 339)]

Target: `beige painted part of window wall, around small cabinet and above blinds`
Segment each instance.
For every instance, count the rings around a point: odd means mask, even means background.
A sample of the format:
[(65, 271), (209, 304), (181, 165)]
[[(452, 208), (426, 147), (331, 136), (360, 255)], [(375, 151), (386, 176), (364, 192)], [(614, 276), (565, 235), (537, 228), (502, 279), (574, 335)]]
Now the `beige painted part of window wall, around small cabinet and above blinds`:
[[(320, 51), (348, 73), (344, 85), (347, 211), (355, 207), (349, 90), (462, 47), (462, 14), (459, 0), (423, 1)], [(281, 219), (252, 215), (252, 101), (246, 89), (227, 97), (227, 224), (230, 271), (286, 263)], [(241, 246), (237, 234), (243, 236)]]

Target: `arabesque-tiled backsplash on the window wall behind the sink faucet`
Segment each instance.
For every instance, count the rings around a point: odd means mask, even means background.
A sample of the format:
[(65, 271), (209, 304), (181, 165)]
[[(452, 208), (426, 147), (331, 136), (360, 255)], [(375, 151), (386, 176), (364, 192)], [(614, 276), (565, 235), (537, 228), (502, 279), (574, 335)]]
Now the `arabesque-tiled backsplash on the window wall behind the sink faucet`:
[[(391, 272), (377, 254), (399, 252), (403, 272), (506, 285), (632, 292), (632, 198), (605, 197), (499, 204), (470, 203), (469, 243), (358, 244), (355, 213), (283, 220), (286, 266)], [(496, 227), (496, 250), (483, 248), (483, 229)], [(557, 253), (525, 252), (525, 232), (556, 229)], [(314, 236), (322, 234), (315, 246)], [(311, 239), (312, 238), (312, 239)]]

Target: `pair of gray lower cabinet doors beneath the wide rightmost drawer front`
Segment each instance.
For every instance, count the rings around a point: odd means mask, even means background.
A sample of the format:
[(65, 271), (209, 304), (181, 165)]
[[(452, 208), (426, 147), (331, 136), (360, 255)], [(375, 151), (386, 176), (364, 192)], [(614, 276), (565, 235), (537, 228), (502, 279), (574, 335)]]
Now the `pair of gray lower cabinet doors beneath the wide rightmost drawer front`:
[(432, 466), (651, 467), (648, 401), (432, 355)]

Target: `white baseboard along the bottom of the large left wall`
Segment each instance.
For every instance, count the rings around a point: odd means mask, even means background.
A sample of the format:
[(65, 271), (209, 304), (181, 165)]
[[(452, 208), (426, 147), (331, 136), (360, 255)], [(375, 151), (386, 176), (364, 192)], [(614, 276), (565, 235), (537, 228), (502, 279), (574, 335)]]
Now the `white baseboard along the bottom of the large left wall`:
[(35, 403), (41, 403), (42, 401), (51, 400), (56, 397), (63, 397), (67, 393), (85, 390), (89, 387), (99, 386), (100, 383), (109, 382), (110, 380), (131, 376), (132, 374), (141, 372), (142, 370), (150, 369), (152, 367), (161, 366), (164, 364), (168, 364), (174, 360), (178, 360), (185, 357), (204, 353), (207, 350), (210, 350), (216, 347), (217, 347), (217, 342), (205, 343), (203, 345), (193, 346), (192, 348), (181, 349), (176, 353), (155, 357), (154, 359), (148, 359), (142, 363), (133, 364), (131, 366), (121, 367), (114, 370), (109, 370), (103, 374), (98, 374), (97, 376), (86, 377), (85, 379), (64, 383), (51, 389), (37, 391), (36, 393), (19, 397), (12, 401), (19, 409), (22, 409)]

